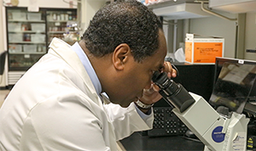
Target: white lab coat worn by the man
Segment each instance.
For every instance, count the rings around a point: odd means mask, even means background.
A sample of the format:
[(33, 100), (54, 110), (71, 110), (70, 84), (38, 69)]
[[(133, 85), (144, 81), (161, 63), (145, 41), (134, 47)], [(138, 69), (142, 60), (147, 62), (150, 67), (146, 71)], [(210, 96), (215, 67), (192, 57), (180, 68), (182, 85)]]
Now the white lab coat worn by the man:
[(102, 105), (77, 54), (55, 38), (0, 109), (0, 150), (117, 150), (117, 140), (152, 125), (134, 103)]

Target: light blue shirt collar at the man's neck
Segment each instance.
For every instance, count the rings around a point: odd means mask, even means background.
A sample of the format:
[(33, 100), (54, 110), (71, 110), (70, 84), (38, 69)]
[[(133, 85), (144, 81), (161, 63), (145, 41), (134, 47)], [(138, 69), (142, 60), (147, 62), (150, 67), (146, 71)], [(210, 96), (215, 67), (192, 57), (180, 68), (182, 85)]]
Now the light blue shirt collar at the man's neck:
[(92, 65), (90, 64), (90, 60), (84, 53), (84, 50), (80, 47), (79, 42), (75, 42), (71, 47), (71, 49), (78, 54), (79, 59), (84, 65), (85, 70), (90, 76), (90, 81), (92, 81), (92, 84), (95, 87), (97, 94), (99, 95), (102, 92), (101, 82), (99, 81), (98, 76), (96, 76), (96, 72), (93, 69)]

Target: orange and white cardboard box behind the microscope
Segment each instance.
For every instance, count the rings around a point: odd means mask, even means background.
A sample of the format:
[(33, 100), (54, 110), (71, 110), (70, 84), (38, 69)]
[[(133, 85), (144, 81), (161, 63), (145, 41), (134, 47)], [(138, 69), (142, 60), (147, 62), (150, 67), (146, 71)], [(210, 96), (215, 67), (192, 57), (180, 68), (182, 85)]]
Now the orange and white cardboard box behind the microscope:
[(216, 57), (224, 56), (224, 38), (195, 38), (186, 34), (185, 62), (189, 64), (215, 64)]

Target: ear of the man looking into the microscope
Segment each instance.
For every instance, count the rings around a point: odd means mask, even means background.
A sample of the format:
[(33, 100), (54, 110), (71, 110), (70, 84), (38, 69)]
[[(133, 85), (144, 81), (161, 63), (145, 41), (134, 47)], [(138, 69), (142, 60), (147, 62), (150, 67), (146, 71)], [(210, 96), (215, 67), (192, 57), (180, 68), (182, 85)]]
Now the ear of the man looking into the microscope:
[(124, 70), (128, 57), (131, 56), (131, 48), (126, 43), (119, 44), (113, 51), (113, 66), (117, 70)]

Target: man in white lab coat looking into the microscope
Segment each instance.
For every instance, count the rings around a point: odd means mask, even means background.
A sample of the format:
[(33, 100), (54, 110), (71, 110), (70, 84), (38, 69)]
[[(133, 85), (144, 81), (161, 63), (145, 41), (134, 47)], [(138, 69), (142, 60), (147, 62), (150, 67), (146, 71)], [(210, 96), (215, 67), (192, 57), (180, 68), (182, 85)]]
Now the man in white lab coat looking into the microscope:
[(160, 98), (152, 75), (176, 76), (165, 56), (160, 20), (147, 7), (105, 6), (80, 42), (55, 38), (16, 83), (0, 110), (0, 150), (117, 150), (116, 141), (152, 128)]

